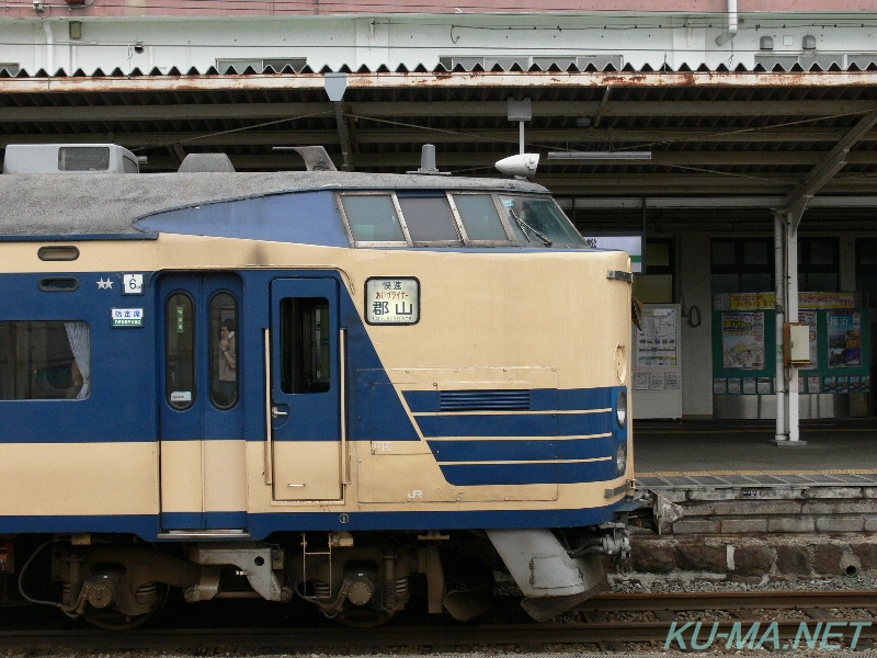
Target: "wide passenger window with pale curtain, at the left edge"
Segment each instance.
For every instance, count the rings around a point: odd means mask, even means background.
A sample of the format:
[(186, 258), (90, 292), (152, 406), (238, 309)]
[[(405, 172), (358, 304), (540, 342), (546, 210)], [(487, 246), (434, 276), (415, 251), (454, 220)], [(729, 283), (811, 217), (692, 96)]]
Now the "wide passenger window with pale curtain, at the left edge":
[(87, 322), (0, 322), (0, 399), (84, 399), (91, 393)]

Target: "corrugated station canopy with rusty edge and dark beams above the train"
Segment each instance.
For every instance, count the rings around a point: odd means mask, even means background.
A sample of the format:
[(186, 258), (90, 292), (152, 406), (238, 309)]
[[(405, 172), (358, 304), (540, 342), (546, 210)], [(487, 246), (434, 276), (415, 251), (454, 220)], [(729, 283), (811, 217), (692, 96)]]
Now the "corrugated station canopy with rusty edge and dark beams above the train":
[(636, 224), (646, 207), (727, 230), (806, 206), (820, 226), (875, 226), (875, 64), (0, 73), (0, 144), (114, 143), (146, 156), (145, 172), (217, 151), (239, 171), (304, 169), (273, 147), (306, 145), (339, 169), (407, 172), (434, 144), (441, 171), (499, 175), (521, 116), (535, 182), (579, 212)]

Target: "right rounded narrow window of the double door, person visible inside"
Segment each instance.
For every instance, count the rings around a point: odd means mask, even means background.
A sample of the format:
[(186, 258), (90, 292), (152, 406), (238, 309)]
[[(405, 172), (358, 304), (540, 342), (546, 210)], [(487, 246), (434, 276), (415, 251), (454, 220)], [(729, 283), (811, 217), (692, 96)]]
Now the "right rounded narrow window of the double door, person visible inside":
[(210, 299), (210, 399), (219, 409), (238, 401), (238, 303), (230, 293)]

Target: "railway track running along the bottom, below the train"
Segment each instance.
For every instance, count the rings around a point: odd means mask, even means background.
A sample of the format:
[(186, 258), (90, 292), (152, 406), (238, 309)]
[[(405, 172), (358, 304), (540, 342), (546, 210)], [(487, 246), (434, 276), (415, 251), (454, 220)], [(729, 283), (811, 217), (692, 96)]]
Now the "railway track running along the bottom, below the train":
[(544, 651), (576, 648), (698, 650), (852, 648), (877, 639), (877, 592), (747, 592), (603, 594), (562, 621), (549, 624), (405, 625), (376, 628), (321, 626), (146, 628), (113, 633), (77, 626), (5, 629), (0, 611), (0, 648), (41, 654), (58, 649), (200, 653), (258, 649), (266, 653), (350, 654), (357, 650), (432, 653), (459, 650)]

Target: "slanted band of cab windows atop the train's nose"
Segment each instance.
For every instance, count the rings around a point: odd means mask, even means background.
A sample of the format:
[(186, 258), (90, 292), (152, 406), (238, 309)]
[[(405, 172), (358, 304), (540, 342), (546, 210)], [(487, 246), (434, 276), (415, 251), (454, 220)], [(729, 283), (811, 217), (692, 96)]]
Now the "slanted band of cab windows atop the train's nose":
[(357, 247), (584, 246), (548, 196), (432, 190), (339, 196)]

